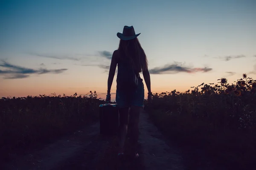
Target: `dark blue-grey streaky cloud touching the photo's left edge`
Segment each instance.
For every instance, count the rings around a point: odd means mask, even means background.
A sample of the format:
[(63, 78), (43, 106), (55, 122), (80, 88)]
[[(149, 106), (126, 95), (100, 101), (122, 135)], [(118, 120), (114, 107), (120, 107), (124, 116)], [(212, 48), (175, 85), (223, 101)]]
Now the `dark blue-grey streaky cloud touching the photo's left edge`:
[(20, 79), (20, 78), (27, 78), (29, 74), (61, 74), (64, 71), (67, 71), (67, 68), (62, 69), (53, 69), (48, 70), (46, 68), (39, 68), (39, 69), (32, 69), (32, 68), (25, 68), (18, 65), (12, 65), (8, 62), (1, 61), (0, 67), (6, 68), (7, 70), (0, 70), (0, 75), (4, 75), (5, 79)]

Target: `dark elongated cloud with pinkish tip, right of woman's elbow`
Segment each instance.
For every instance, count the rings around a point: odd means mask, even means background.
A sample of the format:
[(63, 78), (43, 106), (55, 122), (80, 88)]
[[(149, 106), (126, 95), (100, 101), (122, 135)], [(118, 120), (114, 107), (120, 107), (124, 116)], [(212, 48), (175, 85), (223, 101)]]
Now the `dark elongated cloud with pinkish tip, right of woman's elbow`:
[(191, 68), (188, 66), (182, 66), (179, 63), (174, 63), (171, 65), (164, 65), (163, 67), (156, 67), (149, 70), (150, 74), (176, 74), (180, 72), (184, 73), (195, 73), (195, 72), (208, 72), (212, 68)]

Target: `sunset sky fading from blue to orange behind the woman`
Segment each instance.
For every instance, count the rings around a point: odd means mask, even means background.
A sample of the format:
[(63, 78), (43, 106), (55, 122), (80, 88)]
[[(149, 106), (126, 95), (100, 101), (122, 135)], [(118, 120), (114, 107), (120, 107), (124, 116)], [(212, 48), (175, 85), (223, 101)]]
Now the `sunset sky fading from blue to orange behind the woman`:
[(105, 98), (124, 26), (141, 33), (153, 93), (256, 79), (255, 9), (255, 0), (0, 0), (0, 97)]

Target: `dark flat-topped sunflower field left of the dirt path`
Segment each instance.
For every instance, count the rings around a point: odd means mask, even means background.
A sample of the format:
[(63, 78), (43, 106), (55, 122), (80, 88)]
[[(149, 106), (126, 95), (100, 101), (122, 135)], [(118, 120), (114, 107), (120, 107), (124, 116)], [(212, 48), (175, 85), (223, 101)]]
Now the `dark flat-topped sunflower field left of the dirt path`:
[(98, 121), (96, 91), (86, 96), (27, 96), (0, 99), (0, 157), (23, 153), (31, 147), (73, 133), (79, 127)]

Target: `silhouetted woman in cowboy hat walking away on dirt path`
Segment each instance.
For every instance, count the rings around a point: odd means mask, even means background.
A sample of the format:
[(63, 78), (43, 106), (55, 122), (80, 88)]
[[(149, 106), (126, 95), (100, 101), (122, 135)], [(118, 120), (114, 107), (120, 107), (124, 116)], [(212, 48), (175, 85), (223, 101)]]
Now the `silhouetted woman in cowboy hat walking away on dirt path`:
[[(118, 65), (116, 78), (116, 103), (119, 107), (119, 153), (122, 156), (124, 152), (125, 138), (128, 129), (128, 112), (130, 108), (131, 126), (131, 145), (135, 156), (137, 140), (139, 137), (139, 116), (143, 109), (144, 85), (140, 78), (140, 72), (143, 73), (146, 86), (148, 88), (148, 102), (152, 101), (150, 75), (148, 72), (147, 57), (140, 45), (138, 36), (135, 34), (133, 26), (124, 26), (123, 33), (117, 33), (119, 37), (119, 48), (113, 52), (111, 65), (108, 75), (108, 94), (106, 101), (111, 101), (111, 85)], [(133, 88), (132, 88), (133, 87)]]

